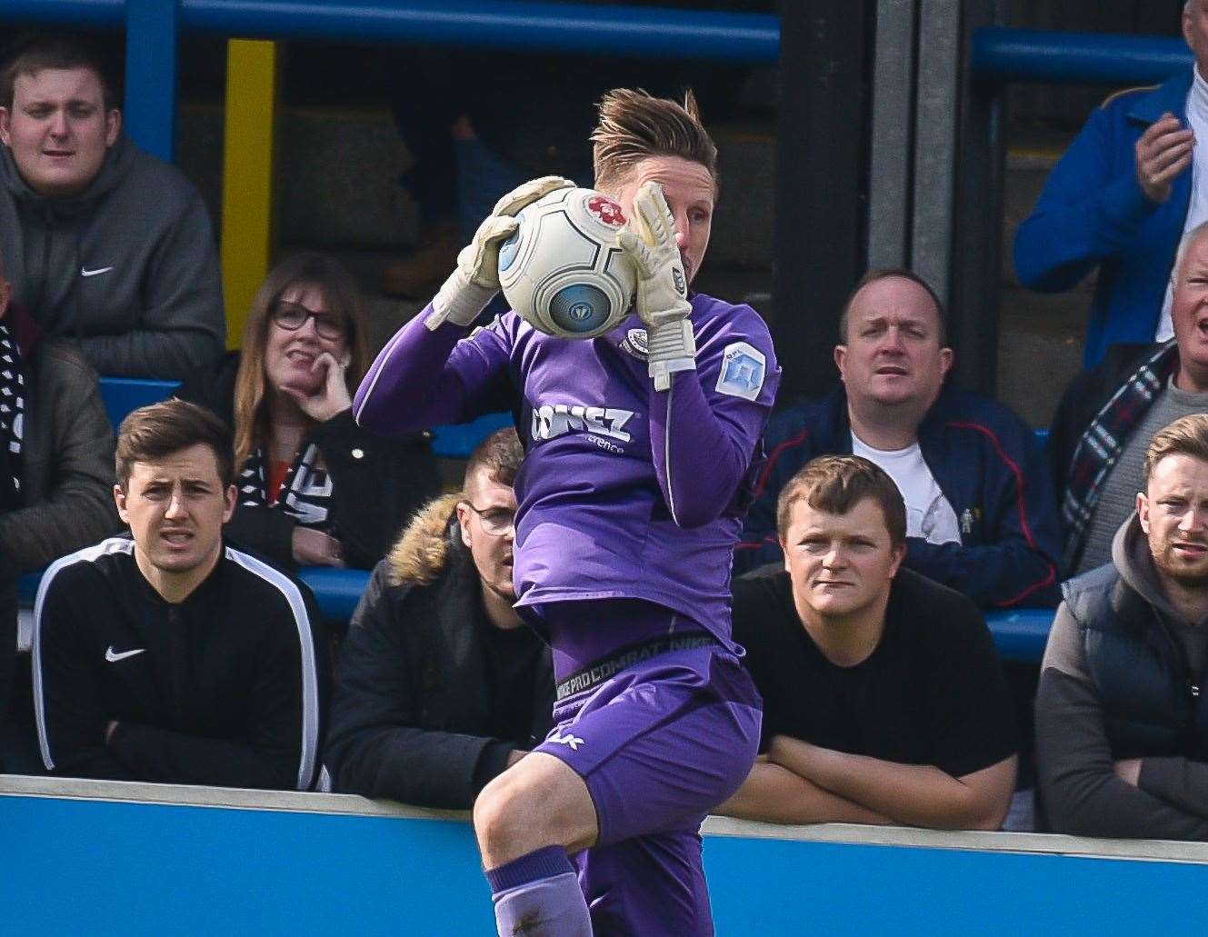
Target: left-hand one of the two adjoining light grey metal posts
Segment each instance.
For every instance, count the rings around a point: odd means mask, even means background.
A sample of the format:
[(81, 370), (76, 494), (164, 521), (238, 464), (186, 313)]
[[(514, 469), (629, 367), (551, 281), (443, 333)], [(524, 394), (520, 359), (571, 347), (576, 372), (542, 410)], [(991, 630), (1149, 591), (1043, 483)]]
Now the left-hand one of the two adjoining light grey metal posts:
[(869, 171), (870, 267), (902, 267), (910, 257), (914, 11), (916, 0), (877, 2)]

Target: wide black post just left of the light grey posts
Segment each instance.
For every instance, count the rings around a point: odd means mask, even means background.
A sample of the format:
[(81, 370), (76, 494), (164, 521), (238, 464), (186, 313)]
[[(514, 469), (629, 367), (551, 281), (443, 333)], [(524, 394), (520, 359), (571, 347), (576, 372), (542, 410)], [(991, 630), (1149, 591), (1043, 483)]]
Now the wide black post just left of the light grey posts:
[(838, 312), (865, 257), (872, 0), (784, 0), (772, 334), (779, 401), (835, 384)]

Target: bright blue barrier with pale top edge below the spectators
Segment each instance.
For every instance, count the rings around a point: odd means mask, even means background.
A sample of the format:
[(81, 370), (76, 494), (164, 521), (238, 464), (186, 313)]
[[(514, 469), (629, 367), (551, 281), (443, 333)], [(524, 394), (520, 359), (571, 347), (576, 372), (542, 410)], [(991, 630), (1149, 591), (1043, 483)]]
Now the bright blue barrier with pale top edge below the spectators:
[[(483, 935), (464, 816), (344, 795), (0, 776), (11, 933)], [(710, 817), (730, 935), (1186, 933), (1208, 846)]]

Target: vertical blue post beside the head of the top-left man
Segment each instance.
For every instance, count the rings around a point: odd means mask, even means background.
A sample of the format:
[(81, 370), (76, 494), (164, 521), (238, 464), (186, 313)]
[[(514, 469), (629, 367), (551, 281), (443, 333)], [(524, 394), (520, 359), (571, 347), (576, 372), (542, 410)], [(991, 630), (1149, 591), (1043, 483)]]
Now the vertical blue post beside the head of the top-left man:
[(172, 162), (180, 0), (126, 0), (126, 133)]

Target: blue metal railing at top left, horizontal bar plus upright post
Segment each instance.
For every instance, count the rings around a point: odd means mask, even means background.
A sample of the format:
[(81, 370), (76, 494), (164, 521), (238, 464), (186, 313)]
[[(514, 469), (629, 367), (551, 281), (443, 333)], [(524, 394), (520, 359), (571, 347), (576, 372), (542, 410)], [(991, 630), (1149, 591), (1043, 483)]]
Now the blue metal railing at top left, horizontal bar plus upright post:
[(4, 0), (0, 22), (124, 28), (126, 127), (172, 159), (176, 35), (416, 42), (597, 56), (776, 62), (780, 25), (763, 13), (511, 0)]

